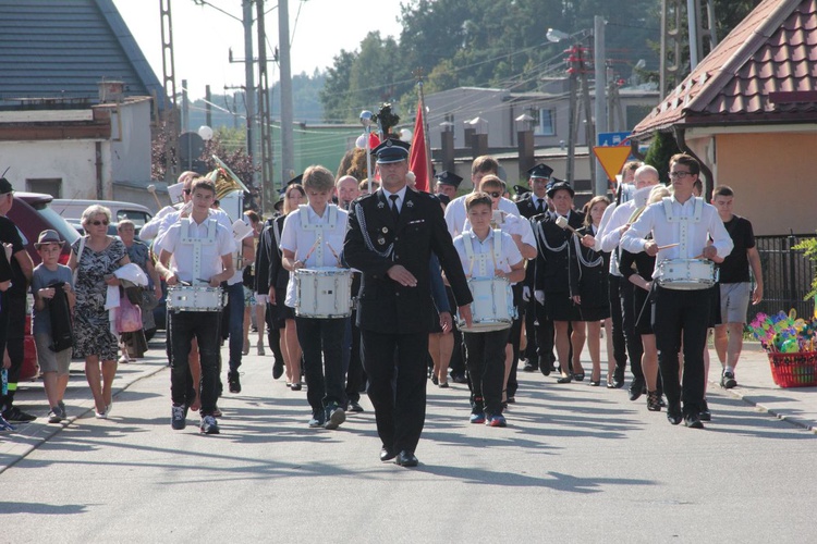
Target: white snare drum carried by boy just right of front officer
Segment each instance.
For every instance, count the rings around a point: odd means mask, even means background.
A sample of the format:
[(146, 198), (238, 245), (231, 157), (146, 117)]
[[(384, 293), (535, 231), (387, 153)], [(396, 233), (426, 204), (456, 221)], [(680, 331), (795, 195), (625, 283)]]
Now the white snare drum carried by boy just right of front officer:
[(461, 331), (486, 333), (509, 329), (516, 317), (513, 306), (511, 283), (505, 277), (471, 277), (468, 288), (474, 301), (471, 302), (472, 326), (459, 320)]

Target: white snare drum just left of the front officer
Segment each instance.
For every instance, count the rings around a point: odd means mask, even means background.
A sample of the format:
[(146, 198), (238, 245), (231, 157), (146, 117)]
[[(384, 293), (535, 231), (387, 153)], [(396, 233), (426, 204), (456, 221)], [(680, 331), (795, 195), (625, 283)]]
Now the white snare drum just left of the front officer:
[(295, 316), (347, 318), (352, 314), (352, 271), (337, 268), (295, 270)]

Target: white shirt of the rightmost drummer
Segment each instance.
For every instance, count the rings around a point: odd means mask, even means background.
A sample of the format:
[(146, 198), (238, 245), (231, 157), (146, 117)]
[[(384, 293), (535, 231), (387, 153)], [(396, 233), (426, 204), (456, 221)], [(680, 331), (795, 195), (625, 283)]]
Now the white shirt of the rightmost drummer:
[[(674, 195), (670, 197), (672, 214), (679, 218), (692, 218), (695, 213), (695, 201), (698, 198), (691, 197), (681, 203), (675, 200)], [(622, 206), (623, 208), (623, 206)], [(659, 246), (675, 244), (681, 240), (681, 221), (670, 223), (667, 221), (667, 213), (663, 202), (649, 205), (638, 220), (630, 225), (627, 232), (621, 238), (621, 247), (632, 254), (644, 251), (644, 245), (647, 243), (647, 235), (653, 233), (653, 239)], [(687, 245), (686, 252), (682, 255), (681, 247), (675, 246), (668, 249), (661, 249), (656, 257), (656, 268), (654, 277), (659, 272), (659, 264), (667, 259), (695, 259), (700, 256), (707, 246), (709, 238), (712, 238), (712, 246), (718, 251), (718, 257), (725, 257), (732, 251), (734, 244), (732, 237), (723, 226), (718, 210), (714, 206), (703, 203), (700, 221), (686, 222), (687, 225)]]

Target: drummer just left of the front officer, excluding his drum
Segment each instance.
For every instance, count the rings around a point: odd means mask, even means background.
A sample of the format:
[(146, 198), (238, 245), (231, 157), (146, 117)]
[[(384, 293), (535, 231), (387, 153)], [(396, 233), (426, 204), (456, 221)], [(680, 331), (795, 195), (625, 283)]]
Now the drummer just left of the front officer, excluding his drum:
[[(303, 294), (297, 288), (297, 270), (341, 268), (339, 256), (346, 232), (347, 213), (329, 203), (334, 188), (332, 173), (324, 166), (309, 166), (303, 180), (308, 205), (286, 215), (281, 232), (282, 264), (292, 272), (284, 300), (290, 308), (298, 308), (303, 302), (298, 298)], [(344, 296), (349, 298), (351, 293)], [(309, 426), (338, 429), (346, 420), (341, 354), (346, 318), (305, 317), (296, 310), (295, 324), (304, 353), (306, 398), (312, 407)]]

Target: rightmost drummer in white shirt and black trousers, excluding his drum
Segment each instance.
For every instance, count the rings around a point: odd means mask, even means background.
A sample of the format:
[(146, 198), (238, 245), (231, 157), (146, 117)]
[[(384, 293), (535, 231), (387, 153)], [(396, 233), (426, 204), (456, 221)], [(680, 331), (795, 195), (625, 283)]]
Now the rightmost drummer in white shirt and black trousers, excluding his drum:
[[(686, 290), (672, 288), (670, 283), (661, 285), (664, 275), (662, 263), (674, 261), (679, 267), (691, 265), (691, 261), (700, 258), (723, 258), (733, 247), (732, 238), (715, 207), (693, 197), (693, 185), (699, 172), (700, 164), (693, 157), (683, 153), (673, 156), (670, 159), (673, 196), (644, 210), (621, 239), (621, 247), (627, 251), (646, 251), (657, 256), (653, 273), (657, 283), (653, 329), (668, 401), (667, 419), (673, 425), (683, 420), (686, 426), (693, 429), (704, 426), (699, 416), (704, 401), (704, 348), (708, 324), (708, 319), (704, 318), (711, 310), (711, 289), (706, 287), (709, 286), (707, 282), (714, 280), (714, 273), (712, 277), (700, 277), (702, 288), (691, 296)], [(650, 232), (653, 239), (647, 238)], [(711, 245), (708, 245), (709, 238)], [(682, 335), (683, 386), (679, 384), (678, 358)]]

